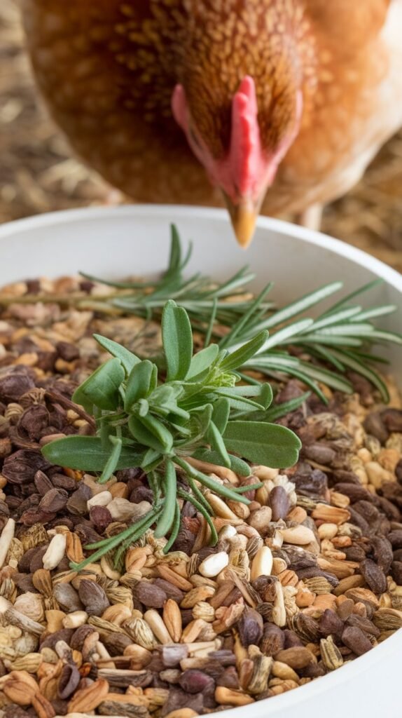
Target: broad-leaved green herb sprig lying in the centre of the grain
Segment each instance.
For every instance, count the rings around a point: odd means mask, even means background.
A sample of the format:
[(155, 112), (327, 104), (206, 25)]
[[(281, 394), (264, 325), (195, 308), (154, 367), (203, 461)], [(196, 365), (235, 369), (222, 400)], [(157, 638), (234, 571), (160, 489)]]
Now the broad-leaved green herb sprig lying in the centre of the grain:
[[(66, 437), (42, 449), (54, 464), (99, 473), (101, 484), (119, 469), (140, 467), (153, 491), (152, 509), (117, 536), (88, 545), (95, 554), (72, 564), (76, 570), (113, 550), (118, 564), (125, 549), (153, 525), (156, 538), (169, 535), (164, 547), (168, 551), (180, 528), (178, 498), (204, 516), (216, 543), (208, 493), (245, 504), (249, 500), (241, 488), (198, 471), (188, 462), (191, 457), (244, 477), (250, 475), (247, 461), (278, 468), (297, 461), (300, 439), (270, 421), (269, 384), (241, 385), (236, 372), (262, 350), (267, 330), (235, 350), (210, 344), (193, 354), (188, 313), (173, 300), (165, 304), (161, 328), (165, 381), (153, 361), (140, 360), (117, 342), (95, 335), (112, 358), (77, 388), (72, 399), (95, 416), (96, 436)], [(277, 416), (277, 407), (272, 411)]]

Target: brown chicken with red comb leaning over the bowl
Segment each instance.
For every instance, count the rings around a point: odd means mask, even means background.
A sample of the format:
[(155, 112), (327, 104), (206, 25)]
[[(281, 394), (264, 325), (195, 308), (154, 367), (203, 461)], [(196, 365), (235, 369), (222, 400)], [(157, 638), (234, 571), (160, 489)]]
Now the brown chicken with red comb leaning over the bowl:
[(24, 0), (39, 87), (139, 202), (257, 214), (343, 195), (402, 124), (402, 0)]

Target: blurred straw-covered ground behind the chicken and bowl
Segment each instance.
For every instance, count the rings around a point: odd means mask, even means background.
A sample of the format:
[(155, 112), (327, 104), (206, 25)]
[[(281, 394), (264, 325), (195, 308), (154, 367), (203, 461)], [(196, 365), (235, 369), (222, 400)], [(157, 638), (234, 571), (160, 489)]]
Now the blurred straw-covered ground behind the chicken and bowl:
[[(0, 223), (125, 202), (75, 159), (35, 91), (19, 11), (0, 0)], [(363, 182), (325, 210), (322, 230), (402, 271), (402, 132)]]

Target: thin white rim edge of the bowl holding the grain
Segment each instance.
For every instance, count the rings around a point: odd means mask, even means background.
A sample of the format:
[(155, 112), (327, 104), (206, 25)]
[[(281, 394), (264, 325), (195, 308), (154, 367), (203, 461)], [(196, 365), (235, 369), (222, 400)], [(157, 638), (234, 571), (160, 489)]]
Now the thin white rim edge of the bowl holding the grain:
[[(118, 207), (95, 207), (95, 208), (78, 208), (73, 210), (61, 210), (57, 212), (49, 212), (33, 217), (14, 220), (0, 226), (0, 241), (11, 238), (16, 231), (29, 232), (31, 229), (47, 227), (51, 225), (70, 225), (82, 220), (104, 220), (105, 218), (118, 217), (135, 217), (145, 218), (163, 218), (168, 221), (168, 215), (173, 214), (180, 218), (201, 218), (211, 220), (216, 223), (228, 223), (226, 210), (209, 207), (194, 207), (181, 205), (120, 205)], [(370, 256), (354, 246), (338, 239), (332, 238), (324, 233), (316, 232), (305, 227), (300, 227), (284, 220), (277, 220), (269, 217), (260, 216), (257, 220), (257, 227), (264, 230), (276, 232), (282, 235), (298, 238), (307, 244), (317, 247), (329, 249), (330, 251), (342, 256), (343, 258), (353, 261), (355, 264), (365, 267), (373, 274), (384, 279), (388, 284), (393, 286), (402, 294), (402, 274), (393, 269), (391, 266), (384, 264), (379, 259)], [(246, 255), (245, 255), (246, 256)], [(288, 691), (279, 696), (275, 696), (274, 703), (269, 703), (269, 710), (274, 718), (275, 712), (281, 712), (284, 709), (297, 707), (301, 702), (309, 701), (314, 696), (324, 693), (327, 689), (336, 689), (344, 682), (344, 678), (352, 681), (355, 677), (368, 671), (375, 666), (376, 663), (384, 661), (389, 654), (396, 655), (398, 651), (398, 643), (402, 647), (402, 631), (398, 630), (391, 637), (387, 638), (381, 644), (375, 646), (375, 651), (369, 651), (364, 656), (360, 656), (358, 660), (352, 661), (343, 666), (339, 671), (333, 671), (326, 676), (322, 676), (320, 681), (311, 681), (310, 684), (300, 686), (297, 691)], [(401, 650), (401, 648), (399, 648)], [(300, 690), (302, 689), (302, 690)], [(254, 704), (247, 705), (248, 712), (253, 718), (262, 718), (267, 712), (267, 700), (257, 701)], [(244, 709), (246, 707), (243, 707)], [(222, 718), (236, 718), (239, 714), (239, 708), (227, 709), (220, 712)], [(281, 713), (282, 715), (282, 713)]]

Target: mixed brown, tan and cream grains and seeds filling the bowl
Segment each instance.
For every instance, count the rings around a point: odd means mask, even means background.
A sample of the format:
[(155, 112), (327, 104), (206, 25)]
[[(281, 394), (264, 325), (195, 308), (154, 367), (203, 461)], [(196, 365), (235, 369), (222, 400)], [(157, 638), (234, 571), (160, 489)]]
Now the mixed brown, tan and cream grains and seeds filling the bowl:
[[(63, 278), (6, 294), (82, 292)], [(140, 470), (106, 485), (49, 465), (40, 448), (92, 434), (72, 392), (106, 358), (97, 332), (152, 349), (135, 317), (12, 303), (0, 314), (0, 715), (192, 718), (289, 691), (345, 666), (402, 627), (402, 409), (349, 375), (355, 393), (311, 396), (279, 421), (302, 440), (287, 471), (199, 466), (263, 486), (252, 501), (209, 493), (219, 544), (189, 503), (172, 550), (148, 531), (121, 572), (77, 573), (85, 545), (150, 509)], [(301, 395), (291, 380), (276, 402)], [(343, 670), (347, 671), (345, 667)]]

